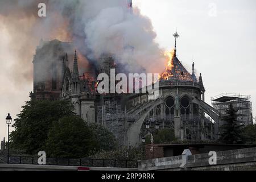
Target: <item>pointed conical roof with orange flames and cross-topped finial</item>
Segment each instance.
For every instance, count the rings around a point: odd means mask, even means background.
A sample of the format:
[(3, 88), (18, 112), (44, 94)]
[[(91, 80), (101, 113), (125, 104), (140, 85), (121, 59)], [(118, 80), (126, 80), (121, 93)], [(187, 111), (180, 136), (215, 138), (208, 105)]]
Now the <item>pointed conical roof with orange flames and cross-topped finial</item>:
[(179, 59), (176, 57), (176, 39), (179, 37), (177, 32), (174, 34), (175, 37), (175, 49), (174, 51), (167, 52), (166, 56), (169, 57), (166, 71), (160, 75), (162, 80), (171, 81), (195, 81), (195, 78), (183, 67)]

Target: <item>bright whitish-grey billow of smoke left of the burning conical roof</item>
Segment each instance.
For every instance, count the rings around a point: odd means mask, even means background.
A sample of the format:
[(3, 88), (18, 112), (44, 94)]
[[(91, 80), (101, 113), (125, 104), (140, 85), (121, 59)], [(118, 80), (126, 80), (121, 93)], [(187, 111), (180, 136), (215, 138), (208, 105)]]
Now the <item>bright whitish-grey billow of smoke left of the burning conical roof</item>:
[[(127, 64), (130, 72), (138, 65), (147, 72), (162, 72), (163, 50), (155, 43), (156, 34), (150, 19), (142, 16), (138, 10), (130, 14), (124, 8), (126, 6), (120, 6), (120, 3), (105, 5), (98, 9), (97, 14), (93, 11), (93, 15), (86, 19), (85, 44), (93, 50), (89, 56), (99, 59), (109, 53), (118, 56), (119, 62)], [(133, 47), (133, 51), (124, 49), (126, 46)]]

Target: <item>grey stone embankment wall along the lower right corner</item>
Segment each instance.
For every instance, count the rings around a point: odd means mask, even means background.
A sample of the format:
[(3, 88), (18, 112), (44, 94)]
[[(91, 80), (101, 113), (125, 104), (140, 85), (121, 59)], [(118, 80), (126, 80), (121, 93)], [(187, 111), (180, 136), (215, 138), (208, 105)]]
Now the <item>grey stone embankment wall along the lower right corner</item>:
[(255, 170), (256, 147), (217, 152), (216, 164), (208, 154), (180, 155), (139, 161), (139, 170)]

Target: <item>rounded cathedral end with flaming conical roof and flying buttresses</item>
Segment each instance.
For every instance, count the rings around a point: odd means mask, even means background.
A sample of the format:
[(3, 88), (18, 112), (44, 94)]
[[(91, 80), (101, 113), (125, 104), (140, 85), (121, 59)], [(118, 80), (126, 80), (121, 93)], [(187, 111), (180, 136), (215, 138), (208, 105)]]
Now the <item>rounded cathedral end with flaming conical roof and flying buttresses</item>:
[(130, 96), (128, 114), (138, 115), (134, 125), (128, 128), (127, 143), (136, 145), (143, 138), (143, 123), (157, 122), (160, 128), (174, 129), (179, 140), (216, 140), (220, 114), (204, 101), (205, 88), (200, 73), (195, 75), (195, 64), (192, 64), (192, 74), (187, 71), (176, 56), (175, 49), (170, 56), (166, 72), (159, 79), (157, 100), (148, 100), (147, 94)]

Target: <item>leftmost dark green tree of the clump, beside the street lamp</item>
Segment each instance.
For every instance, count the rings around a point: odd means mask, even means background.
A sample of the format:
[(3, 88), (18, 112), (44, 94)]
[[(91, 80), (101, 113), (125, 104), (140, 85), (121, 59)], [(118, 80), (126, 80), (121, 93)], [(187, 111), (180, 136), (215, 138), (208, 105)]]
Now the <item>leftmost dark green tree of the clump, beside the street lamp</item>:
[(53, 121), (74, 115), (69, 101), (28, 101), (14, 119), (10, 134), (12, 150), (24, 150), (34, 155), (46, 146), (47, 134)]

